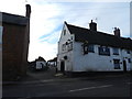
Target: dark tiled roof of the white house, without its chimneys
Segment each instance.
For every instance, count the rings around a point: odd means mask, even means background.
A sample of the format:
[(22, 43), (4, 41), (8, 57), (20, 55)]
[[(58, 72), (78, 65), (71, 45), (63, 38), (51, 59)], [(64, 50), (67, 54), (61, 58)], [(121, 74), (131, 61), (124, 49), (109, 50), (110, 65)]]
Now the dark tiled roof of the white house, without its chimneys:
[(76, 42), (88, 41), (89, 44), (99, 44), (105, 46), (120, 47), (132, 50), (132, 40), (125, 37), (118, 37), (103, 32), (91, 31), (85, 28), (67, 24), (67, 28), (72, 34), (75, 34)]

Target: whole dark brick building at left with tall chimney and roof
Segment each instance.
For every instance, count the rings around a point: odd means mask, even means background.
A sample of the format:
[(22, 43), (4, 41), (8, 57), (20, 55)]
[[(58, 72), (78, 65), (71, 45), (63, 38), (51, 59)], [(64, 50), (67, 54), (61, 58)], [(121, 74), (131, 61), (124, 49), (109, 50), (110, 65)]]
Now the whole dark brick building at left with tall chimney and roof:
[(26, 75), (30, 43), (31, 6), (26, 4), (25, 16), (2, 14), (2, 80), (15, 80)]

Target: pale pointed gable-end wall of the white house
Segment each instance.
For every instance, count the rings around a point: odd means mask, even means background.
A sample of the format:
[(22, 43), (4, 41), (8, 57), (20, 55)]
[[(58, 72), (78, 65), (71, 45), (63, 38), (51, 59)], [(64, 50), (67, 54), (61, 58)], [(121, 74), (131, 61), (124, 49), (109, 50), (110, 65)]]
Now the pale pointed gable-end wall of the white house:
[[(64, 35), (64, 30), (66, 30), (65, 35)], [(67, 26), (64, 24), (64, 28), (63, 28), (63, 31), (61, 34), (61, 38), (58, 42), (57, 68), (58, 68), (58, 70), (61, 70), (61, 62), (64, 61), (65, 62), (65, 70), (72, 72), (73, 70), (73, 51), (67, 51), (67, 46), (66, 46), (65, 51), (62, 50), (63, 44), (68, 42), (67, 40), (70, 40), (70, 42), (74, 42), (74, 35), (69, 33)], [(67, 59), (64, 59), (64, 56), (67, 56)]]

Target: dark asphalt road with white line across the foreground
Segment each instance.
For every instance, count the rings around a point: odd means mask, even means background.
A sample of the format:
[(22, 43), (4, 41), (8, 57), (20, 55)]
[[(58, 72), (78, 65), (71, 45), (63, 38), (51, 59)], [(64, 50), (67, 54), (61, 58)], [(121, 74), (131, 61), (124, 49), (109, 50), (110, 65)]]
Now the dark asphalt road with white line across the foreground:
[(25, 81), (3, 87), (3, 97), (130, 97), (129, 75)]

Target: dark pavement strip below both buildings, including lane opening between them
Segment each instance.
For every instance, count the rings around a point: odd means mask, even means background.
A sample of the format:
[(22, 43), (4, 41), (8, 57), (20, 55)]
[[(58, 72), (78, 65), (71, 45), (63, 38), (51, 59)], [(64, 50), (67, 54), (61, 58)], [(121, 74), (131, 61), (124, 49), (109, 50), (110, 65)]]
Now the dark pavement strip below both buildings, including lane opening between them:
[(64, 79), (69, 79), (69, 80), (76, 80), (78, 78), (81, 79), (100, 79), (100, 78), (106, 78), (106, 77), (114, 77), (114, 76), (124, 76), (124, 75), (130, 75), (130, 74), (90, 74), (89, 76), (66, 76), (61, 73), (56, 73), (55, 67), (50, 67), (47, 70), (35, 70), (31, 72), (28, 70), (26, 76), (23, 77), (21, 80), (18, 81), (4, 81), (2, 82), (3, 85), (15, 85), (15, 84), (37, 84), (37, 82), (47, 82), (47, 81), (62, 81)]

